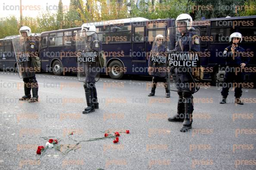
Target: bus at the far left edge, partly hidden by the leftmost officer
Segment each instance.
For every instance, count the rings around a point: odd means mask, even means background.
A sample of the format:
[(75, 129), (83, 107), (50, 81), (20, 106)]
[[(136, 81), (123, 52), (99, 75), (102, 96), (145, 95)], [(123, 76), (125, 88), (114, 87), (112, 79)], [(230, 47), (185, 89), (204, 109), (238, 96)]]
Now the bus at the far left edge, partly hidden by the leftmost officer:
[[(16, 72), (16, 58), (12, 46), (12, 39), (19, 37), (20, 35), (15, 36), (6, 36), (3, 39), (0, 39), (0, 70)], [(34, 41), (37, 43), (39, 49), (40, 46), (40, 33), (32, 33)], [(38, 50), (37, 49), (37, 50)]]

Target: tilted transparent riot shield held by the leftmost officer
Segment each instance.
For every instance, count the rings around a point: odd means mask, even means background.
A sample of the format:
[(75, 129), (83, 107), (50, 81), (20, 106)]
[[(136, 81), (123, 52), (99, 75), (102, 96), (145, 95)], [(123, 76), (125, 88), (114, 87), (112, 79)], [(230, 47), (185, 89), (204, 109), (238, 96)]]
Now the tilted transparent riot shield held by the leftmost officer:
[(16, 64), (19, 72), (19, 77), (27, 78), (35, 75), (32, 57), (35, 54), (29, 52), (29, 43), (27, 37), (17, 37), (12, 39), (12, 46), (15, 53)]

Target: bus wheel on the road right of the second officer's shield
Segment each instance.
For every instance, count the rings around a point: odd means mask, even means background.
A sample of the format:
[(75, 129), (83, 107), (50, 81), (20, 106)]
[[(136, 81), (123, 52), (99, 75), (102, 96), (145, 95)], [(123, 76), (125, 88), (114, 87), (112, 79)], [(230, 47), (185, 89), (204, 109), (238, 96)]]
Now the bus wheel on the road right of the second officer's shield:
[(111, 68), (111, 71), (109, 72), (109, 76), (111, 79), (122, 79), (124, 76), (124, 66), (120, 61), (112, 61), (109, 64), (109, 67)]

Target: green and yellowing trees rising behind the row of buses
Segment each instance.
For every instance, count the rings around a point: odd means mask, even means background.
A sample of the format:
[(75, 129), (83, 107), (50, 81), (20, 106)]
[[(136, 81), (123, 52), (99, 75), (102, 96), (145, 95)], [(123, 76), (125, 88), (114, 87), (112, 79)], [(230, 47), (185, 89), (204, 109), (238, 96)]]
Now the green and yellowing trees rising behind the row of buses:
[[(33, 33), (81, 27), (83, 23), (144, 17), (148, 19), (176, 18), (188, 13), (194, 20), (221, 18), (226, 16), (256, 15), (256, 0), (162, 0), (162, 3), (140, 0), (139, 8), (131, 0), (131, 13), (128, 13), (128, 0), (70, 0), (69, 10), (63, 12), (62, 0), (56, 13), (41, 13), (37, 18), (23, 17), (23, 25), (31, 27)], [(205, 6), (205, 8), (203, 8)], [(207, 9), (208, 6), (208, 9)], [(212, 6), (212, 8), (209, 8)], [(0, 38), (19, 34), (20, 21), (14, 16), (0, 18)]]

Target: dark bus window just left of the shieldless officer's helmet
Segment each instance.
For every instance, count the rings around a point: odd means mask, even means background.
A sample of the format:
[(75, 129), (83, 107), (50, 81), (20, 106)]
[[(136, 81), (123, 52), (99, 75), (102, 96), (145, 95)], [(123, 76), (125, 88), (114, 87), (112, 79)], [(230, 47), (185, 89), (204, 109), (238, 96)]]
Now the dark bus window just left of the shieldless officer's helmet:
[(211, 43), (228, 43), (230, 34), (234, 32), (232, 27), (211, 28), (211, 36), (213, 36)]

